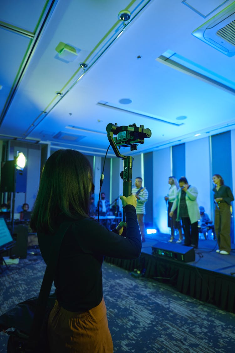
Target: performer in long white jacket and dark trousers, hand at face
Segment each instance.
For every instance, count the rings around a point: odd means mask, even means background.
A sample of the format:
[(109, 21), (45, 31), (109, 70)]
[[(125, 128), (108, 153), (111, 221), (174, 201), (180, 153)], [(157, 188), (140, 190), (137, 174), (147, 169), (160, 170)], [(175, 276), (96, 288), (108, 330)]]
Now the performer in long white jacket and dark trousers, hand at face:
[(179, 179), (180, 189), (177, 197), (173, 202), (171, 214), (177, 209), (177, 221), (182, 220), (184, 229), (184, 245), (198, 247), (198, 220), (200, 219), (199, 207), (197, 203), (197, 188), (188, 185), (185, 177)]

